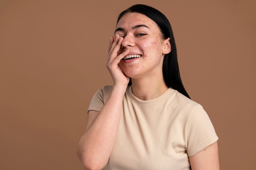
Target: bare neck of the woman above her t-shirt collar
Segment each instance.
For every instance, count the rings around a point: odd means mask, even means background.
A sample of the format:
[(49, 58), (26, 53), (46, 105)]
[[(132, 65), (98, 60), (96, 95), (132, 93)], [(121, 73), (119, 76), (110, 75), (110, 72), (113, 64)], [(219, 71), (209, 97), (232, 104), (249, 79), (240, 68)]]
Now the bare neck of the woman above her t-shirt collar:
[(132, 93), (141, 100), (151, 100), (163, 94), (168, 87), (164, 78), (157, 80), (147, 78), (145, 80), (132, 79)]

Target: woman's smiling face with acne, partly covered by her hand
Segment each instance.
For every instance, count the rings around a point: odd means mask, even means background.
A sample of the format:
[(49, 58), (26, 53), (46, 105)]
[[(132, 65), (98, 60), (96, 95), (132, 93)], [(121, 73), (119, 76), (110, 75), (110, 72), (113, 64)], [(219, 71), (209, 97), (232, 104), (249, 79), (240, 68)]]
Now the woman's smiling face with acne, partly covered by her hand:
[(124, 37), (118, 54), (127, 48), (130, 50), (129, 55), (119, 63), (126, 76), (162, 76), (164, 54), (171, 51), (171, 45), (169, 38), (163, 39), (153, 20), (141, 13), (127, 13), (117, 23), (115, 34)]

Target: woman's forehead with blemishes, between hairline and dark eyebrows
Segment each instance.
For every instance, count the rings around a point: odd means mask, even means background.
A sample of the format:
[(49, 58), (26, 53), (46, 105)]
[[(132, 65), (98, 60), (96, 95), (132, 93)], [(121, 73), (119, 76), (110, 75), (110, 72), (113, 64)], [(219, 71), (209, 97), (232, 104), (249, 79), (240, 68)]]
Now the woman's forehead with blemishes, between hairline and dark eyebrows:
[(126, 13), (119, 22), (117, 28), (132, 27), (139, 24), (145, 24), (148, 27), (157, 27), (157, 24), (146, 15), (141, 13)]

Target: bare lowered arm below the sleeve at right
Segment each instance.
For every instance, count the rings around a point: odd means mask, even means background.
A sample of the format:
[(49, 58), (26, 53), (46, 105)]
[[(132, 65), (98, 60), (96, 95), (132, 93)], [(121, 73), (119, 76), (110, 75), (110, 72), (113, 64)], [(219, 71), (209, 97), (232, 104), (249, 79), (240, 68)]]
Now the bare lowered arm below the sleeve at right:
[(220, 170), (218, 143), (215, 142), (189, 157), (192, 170)]

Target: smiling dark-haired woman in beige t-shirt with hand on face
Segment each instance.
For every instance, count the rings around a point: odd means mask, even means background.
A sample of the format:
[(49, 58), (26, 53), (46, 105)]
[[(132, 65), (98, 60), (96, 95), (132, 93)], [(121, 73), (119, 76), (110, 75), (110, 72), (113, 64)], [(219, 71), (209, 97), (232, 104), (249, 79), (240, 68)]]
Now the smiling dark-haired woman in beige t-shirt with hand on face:
[(134, 5), (117, 20), (107, 68), (77, 154), (85, 169), (218, 170), (218, 137), (180, 78), (171, 25)]

